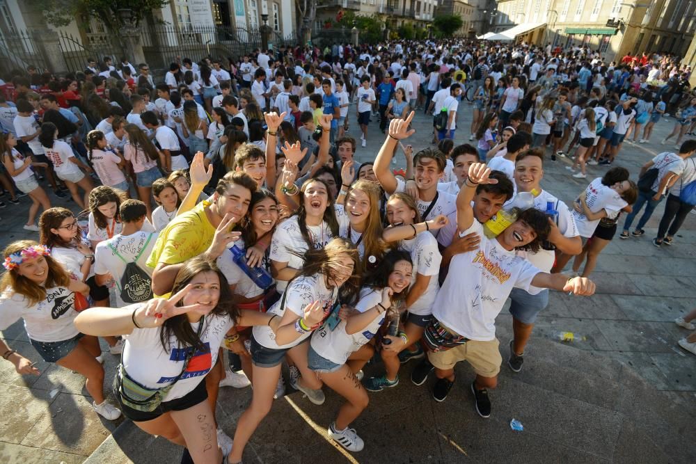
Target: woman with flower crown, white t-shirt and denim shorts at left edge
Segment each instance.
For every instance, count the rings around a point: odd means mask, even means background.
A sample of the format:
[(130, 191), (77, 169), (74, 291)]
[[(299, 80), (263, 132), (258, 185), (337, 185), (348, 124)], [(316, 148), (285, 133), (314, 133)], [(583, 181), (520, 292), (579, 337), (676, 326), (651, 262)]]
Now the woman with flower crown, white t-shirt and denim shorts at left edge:
[[(0, 330), (24, 319), (29, 342), (41, 358), (85, 376), (85, 387), (94, 400), (92, 408), (106, 419), (119, 417), (120, 411), (104, 399), (104, 368), (95, 359), (102, 352), (97, 337), (79, 333), (73, 323), (75, 299), (77, 294), (89, 293), (88, 285), (71, 279), (51, 257), (50, 248), (35, 241), (10, 243), (3, 256), (6, 271), (0, 278)], [(29, 359), (2, 340), (0, 351), (18, 374), (40, 374)]]

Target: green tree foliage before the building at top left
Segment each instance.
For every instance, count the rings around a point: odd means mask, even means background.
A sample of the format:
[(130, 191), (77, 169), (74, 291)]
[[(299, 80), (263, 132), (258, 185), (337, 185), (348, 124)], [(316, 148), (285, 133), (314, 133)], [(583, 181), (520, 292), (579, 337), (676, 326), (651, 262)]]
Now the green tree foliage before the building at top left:
[(132, 10), (131, 21), (139, 24), (153, 11), (167, 6), (170, 0), (32, 0), (40, 8), (46, 22), (54, 26), (67, 26), (73, 19), (89, 22), (100, 19), (109, 31), (118, 31), (125, 25), (118, 10)]

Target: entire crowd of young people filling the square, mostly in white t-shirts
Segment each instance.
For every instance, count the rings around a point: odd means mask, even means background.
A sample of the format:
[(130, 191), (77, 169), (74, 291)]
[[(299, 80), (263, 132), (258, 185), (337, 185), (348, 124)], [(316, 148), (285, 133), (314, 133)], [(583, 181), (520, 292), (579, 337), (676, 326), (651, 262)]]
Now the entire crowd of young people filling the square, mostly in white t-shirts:
[[(396, 387), (410, 360), (416, 385), (434, 373), (436, 401), (468, 362), (489, 417), (507, 299), (506, 364), (519, 372), (548, 289), (594, 294), (622, 213), (619, 238), (640, 237), (667, 198), (653, 244), (670, 246), (696, 204), (690, 69), (629, 58), (396, 41), (183, 58), (157, 84), (126, 58), (62, 78), (15, 72), (0, 86), (0, 182), (13, 204), (32, 200), (24, 229), (39, 237), (4, 250), (0, 328), (24, 319), (43, 360), (86, 377), (98, 414), (182, 445), (182, 462), (241, 462), (285, 392), (283, 363), (312, 403), (324, 387), (345, 399), (327, 433), (349, 451), (365, 446), (350, 426), (368, 392)], [(649, 141), (668, 108), (674, 151), (631, 179), (624, 141)], [(408, 143), (417, 111), (432, 115), (433, 146)], [(352, 121), (361, 147), (379, 146), (373, 161), (354, 160)], [(471, 144), (455, 143), (465, 129)], [(580, 179), (603, 166), (570, 205), (543, 185), (560, 157)], [(52, 206), (48, 186), (82, 212)], [(116, 406), (100, 337), (121, 355)], [(696, 331), (679, 344), (696, 354)], [(26, 353), (0, 351), (39, 374)], [(363, 378), (371, 360), (383, 374)], [(216, 421), (219, 388), (250, 384), (232, 440)]]

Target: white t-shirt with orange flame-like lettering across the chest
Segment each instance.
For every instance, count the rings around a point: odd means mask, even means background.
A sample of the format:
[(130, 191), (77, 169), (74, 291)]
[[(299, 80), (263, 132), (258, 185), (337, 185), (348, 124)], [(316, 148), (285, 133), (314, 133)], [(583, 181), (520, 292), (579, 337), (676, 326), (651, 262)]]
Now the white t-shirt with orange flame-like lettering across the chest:
[(505, 250), (497, 239), (488, 239), (478, 221), (460, 235), (471, 232), (479, 235), (480, 246), (454, 255), (435, 299), (433, 316), (459, 335), (487, 341), (496, 338), (496, 317), (512, 288), (528, 291), (539, 269), (514, 250)]

